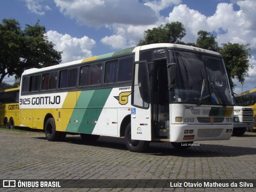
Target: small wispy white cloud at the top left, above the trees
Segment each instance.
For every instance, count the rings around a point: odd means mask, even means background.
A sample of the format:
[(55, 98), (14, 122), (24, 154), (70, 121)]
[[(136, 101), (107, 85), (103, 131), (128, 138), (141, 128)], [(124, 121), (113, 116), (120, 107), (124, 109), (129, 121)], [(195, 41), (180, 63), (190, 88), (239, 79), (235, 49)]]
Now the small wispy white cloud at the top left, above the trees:
[(51, 10), (50, 6), (42, 5), (42, 0), (24, 0), (28, 9), (35, 14), (44, 15), (45, 11)]

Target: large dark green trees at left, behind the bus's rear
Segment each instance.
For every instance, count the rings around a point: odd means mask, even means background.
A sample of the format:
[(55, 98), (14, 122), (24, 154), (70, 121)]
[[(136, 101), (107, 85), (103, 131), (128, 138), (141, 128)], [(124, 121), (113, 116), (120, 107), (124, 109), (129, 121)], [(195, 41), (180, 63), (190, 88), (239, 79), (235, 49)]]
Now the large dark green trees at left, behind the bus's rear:
[(3, 19), (0, 24), (0, 83), (6, 75), (21, 77), (25, 69), (42, 68), (61, 62), (61, 51), (54, 49), (46, 29), (26, 24), (22, 31), (18, 21)]

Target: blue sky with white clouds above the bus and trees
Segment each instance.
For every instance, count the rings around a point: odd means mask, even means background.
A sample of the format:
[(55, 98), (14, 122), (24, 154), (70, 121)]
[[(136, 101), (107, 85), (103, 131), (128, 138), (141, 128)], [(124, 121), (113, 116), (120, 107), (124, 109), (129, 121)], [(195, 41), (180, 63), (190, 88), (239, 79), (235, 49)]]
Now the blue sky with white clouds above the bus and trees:
[[(46, 27), (47, 36), (63, 51), (62, 62), (136, 46), (143, 32), (179, 21), (185, 42), (195, 42), (206, 30), (217, 42), (250, 44), (256, 65), (256, 0), (0, 0), (0, 19), (16, 19)], [(256, 66), (236, 93), (256, 87)], [(5, 79), (13, 81), (12, 78)]]

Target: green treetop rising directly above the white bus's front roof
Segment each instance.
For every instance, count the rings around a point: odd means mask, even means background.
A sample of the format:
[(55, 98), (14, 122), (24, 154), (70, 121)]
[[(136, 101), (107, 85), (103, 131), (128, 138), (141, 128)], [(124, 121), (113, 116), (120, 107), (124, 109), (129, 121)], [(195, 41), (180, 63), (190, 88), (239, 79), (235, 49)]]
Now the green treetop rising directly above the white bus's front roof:
[(160, 25), (152, 30), (144, 31), (144, 40), (140, 40), (138, 46), (156, 43), (184, 44), (181, 39), (185, 35), (186, 29), (181, 22), (171, 22), (165, 26)]

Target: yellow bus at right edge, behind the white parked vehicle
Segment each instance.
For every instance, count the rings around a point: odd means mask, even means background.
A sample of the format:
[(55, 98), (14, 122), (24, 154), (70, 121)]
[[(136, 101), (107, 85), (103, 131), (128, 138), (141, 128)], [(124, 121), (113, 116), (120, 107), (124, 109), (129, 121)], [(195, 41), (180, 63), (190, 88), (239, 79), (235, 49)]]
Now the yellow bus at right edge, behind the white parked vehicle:
[(239, 106), (253, 107), (254, 111), (254, 132), (256, 132), (256, 89), (244, 91), (235, 97), (236, 103)]

